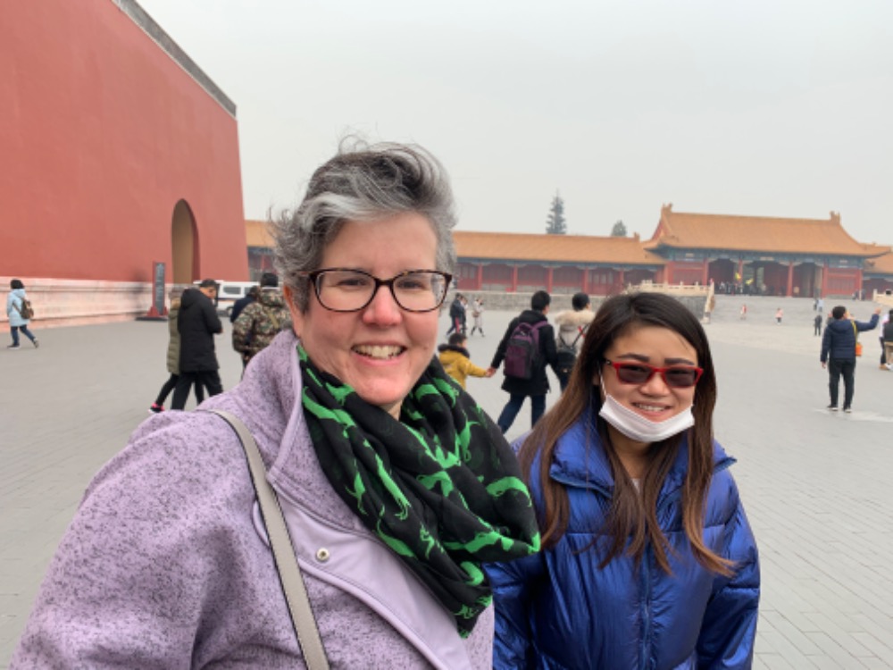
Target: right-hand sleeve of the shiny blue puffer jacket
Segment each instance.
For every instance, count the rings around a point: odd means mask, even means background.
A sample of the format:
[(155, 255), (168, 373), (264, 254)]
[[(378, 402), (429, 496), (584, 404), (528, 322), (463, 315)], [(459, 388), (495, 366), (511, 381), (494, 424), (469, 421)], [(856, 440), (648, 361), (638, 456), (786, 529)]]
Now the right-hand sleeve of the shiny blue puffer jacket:
[(725, 524), (723, 557), (735, 562), (731, 577), (718, 575), (697, 640), (699, 668), (745, 670), (753, 663), (760, 565), (754, 534), (734, 481), (734, 512)]

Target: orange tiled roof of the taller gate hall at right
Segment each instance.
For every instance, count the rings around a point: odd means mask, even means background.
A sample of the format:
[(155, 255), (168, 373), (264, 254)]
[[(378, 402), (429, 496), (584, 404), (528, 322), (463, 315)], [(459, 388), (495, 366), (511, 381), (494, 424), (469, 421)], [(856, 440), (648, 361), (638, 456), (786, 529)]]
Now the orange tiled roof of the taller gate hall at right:
[(840, 214), (823, 219), (688, 214), (661, 208), (661, 221), (646, 248), (711, 248), (770, 253), (870, 257), (889, 247), (857, 242), (840, 225)]

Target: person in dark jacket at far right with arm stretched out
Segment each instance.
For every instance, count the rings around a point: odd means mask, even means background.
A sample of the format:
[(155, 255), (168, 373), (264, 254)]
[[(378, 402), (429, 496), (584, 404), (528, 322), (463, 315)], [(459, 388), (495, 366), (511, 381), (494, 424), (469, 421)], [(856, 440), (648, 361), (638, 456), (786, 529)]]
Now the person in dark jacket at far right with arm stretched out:
[(838, 389), (840, 377), (843, 377), (843, 411), (851, 412), (853, 394), (855, 392), (855, 342), (856, 335), (862, 331), (872, 331), (878, 325), (880, 307), (874, 310), (868, 322), (850, 319), (845, 306), (839, 305), (831, 310), (831, 321), (825, 326), (822, 335), (822, 354), (819, 360), (822, 367), (828, 368), (828, 389), (830, 392), (831, 412), (838, 410)]

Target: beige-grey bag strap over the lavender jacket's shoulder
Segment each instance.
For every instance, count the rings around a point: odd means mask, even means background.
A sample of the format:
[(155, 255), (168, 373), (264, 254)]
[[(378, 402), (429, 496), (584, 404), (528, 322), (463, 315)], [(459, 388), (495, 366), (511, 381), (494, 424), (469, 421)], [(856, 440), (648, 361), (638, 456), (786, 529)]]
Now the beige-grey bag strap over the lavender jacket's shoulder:
[(273, 561), (279, 572), (282, 591), (285, 593), (288, 603), (288, 614), (295, 628), (297, 643), (304, 654), (304, 661), (309, 670), (329, 670), (329, 659), (326, 650), (322, 646), (319, 629), (316, 627), (316, 618), (313, 616), (313, 607), (307, 598), (307, 590), (304, 579), (301, 577), (301, 568), (297, 565), (295, 549), (288, 537), (288, 526), (282, 515), (279, 498), (267, 482), (267, 471), (263, 466), (261, 452), (257, 448), (255, 438), (236, 415), (220, 409), (208, 410), (220, 416), (236, 431), (238, 440), (245, 448), (248, 459), (248, 468), (251, 470), (251, 481), (255, 485), (257, 502), (261, 507), (263, 523), (267, 527), (267, 535), (270, 537), (270, 547), (273, 552)]

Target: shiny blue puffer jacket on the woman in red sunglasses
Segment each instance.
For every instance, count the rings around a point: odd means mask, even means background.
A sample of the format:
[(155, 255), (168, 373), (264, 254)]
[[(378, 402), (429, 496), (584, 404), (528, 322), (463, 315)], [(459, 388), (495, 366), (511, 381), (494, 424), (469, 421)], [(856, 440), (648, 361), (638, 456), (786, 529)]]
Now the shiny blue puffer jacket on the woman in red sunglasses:
[[(680, 498), (688, 463), (683, 441), (663, 483), (657, 518), (672, 552), (673, 575), (647, 551), (599, 568), (595, 540), (611, 506), (613, 477), (593, 425), (583, 419), (558, 442), (550, 477), (565, 486), (571, 518), (557, 545), (512, 563), (487, 565), (496, 607), (495, 668), (749, 668), (754, 653), (760, 570), (756, 544), (727, 468), (734, 459), (714, 443), (714, 477), (705, 543), (737, 562), (731, 578), (707, 572), (689, 551)], [(586, 448), (587, 440), (592, 440)], [(533, 472), (538, 472), (538, 462)], [(542, 489), (531, 492), (542, 509)], [(673, 553), (675, 552), (675, 553)]]

